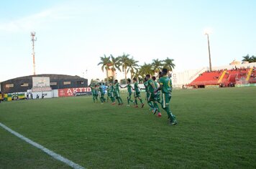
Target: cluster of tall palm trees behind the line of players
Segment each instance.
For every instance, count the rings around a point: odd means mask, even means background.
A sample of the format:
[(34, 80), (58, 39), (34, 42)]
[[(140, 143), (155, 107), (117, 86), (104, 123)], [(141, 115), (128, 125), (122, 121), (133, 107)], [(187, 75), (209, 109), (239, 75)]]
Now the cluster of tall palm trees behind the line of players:
[(172, 71), (175, 67), (173, 63), (174, 59), (166, 58), (164, 60), (153, 59), (151, 63), (144, 63), (143, 65), (139, 65), (139, 61), (135, 60), (129, 54), (122, 54), (121, 56), (114, 57), (112, 54), (109, 57), (104, 54), (103, 57), (100, 57), (101, 62), (99, 62), (98, 66), (101, 65), (102, 72), (106, 72), (106, 82), (109, 84), (109, 81), (114, 82), (114, 76), (109, 77), (109, 71), (116, 72), (119, 70), (120, 72), (124, 72), (124, 82), (127, 83), (127, 74), (131, 74), (131, 79), (136, 77), (137, 79), (142, 79), (146, 76), (146, 74), (155, 74), (156, 72), (160, 72), (163, 68)]

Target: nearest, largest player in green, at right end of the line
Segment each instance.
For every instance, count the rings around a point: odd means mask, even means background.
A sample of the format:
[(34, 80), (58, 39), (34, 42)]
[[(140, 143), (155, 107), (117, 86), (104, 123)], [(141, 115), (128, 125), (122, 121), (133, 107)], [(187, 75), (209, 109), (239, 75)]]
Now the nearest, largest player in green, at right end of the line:
[(176, 125), (177, 120), (175, 118), (175, 115), (170, 111), (170, 99), (171, 99), (171, 92), (172, 92), (172, 81), (171, 79), (167, 76), (167, 69), (163, 69), (162, 75), (159, 79), (160, 82), (160, 87), (155, 90), (155, 93), (158, 90), (162, 91), (162, 107), (165, 112), (167, 112), (168, 119), (170, 120), (170, 125)]

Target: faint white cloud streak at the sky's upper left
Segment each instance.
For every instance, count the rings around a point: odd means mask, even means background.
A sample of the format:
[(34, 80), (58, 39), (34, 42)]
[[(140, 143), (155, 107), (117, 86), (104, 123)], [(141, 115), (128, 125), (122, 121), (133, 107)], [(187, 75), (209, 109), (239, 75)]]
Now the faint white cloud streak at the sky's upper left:
[(37, 14), (24, 16), (12, 21), (0, 22), (0, 31), (3, 32), (22, 32), (32, 31), (39, 29), (53, 21), (60, 21), (70, 19), (71, 16), (68, 14), (67, 8), (55, 8), (41, 11)]

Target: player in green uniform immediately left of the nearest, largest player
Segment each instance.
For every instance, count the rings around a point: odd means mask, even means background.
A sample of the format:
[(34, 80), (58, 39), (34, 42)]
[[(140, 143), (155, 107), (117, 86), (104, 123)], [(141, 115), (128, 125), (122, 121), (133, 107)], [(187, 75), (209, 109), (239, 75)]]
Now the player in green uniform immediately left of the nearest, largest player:
[(157, 94), (155, 94), (155, 90), (157, 90), (157, 84), (150, 78), (150, 74), (146, 75), (147, 84), (148, 84), (148, 92), (150, 95), (147, 97), (148, 101), (152, 101), (154, 105), (154, 115), (158, 112), (158, 116), (161, 117), (160, 109), (157, 105)]

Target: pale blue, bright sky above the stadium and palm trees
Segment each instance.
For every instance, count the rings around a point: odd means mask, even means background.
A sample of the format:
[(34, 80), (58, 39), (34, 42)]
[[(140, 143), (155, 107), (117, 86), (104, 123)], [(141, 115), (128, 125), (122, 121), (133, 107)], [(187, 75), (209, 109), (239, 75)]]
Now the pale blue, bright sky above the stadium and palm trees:
[[(174, 59), (175, 71), (228, 65), (256, 55), (255, 0), (1, 0), (0, 82), (36, 74), (104, 79), (104, 54), (139, 64)], [(86, 71), (87, 70), (87, 71)], [(118, 79), (124, 73), (118, 72)]]

